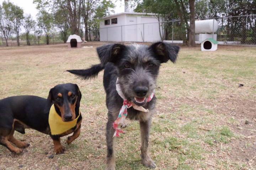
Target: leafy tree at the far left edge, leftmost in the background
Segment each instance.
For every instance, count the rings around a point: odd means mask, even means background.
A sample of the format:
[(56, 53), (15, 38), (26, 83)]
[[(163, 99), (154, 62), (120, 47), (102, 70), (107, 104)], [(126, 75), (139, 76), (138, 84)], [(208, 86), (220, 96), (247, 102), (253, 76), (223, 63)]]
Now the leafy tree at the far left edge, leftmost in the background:
[(8, 38), (11, 35), (11, 29), (12, 29), (12, 23), (8, 16), (8, 6), (6, 6), (6, 2), (4, 1), (2, 3), (2, 6), (0, 5), (0, 28), (1, 32), (5, 38), (6, 46), (8, 46)]

